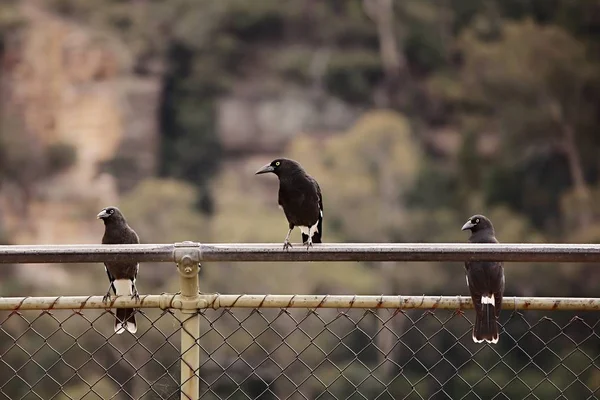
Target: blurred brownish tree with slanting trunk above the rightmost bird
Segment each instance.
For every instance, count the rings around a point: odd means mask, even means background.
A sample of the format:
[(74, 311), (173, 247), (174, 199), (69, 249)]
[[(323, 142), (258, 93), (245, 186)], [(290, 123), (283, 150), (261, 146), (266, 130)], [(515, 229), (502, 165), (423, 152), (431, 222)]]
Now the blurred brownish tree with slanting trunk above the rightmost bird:
[(591, 134), (585, 121), (595, 118), (586, 88), (598, 68), (585, 47), (558, 27), (527, 20), (506, 23), (497, 41), (482, 41), (469, 30), (459, 42), (464, 55), (463, 82), (473, 101), (491, 111), (491, 127), (502, 133), (502, 160), (521, 163), (541, 152), (560, 154), (581, 204), (579, 222), (590, 223), (589, 189), (579, 138)]

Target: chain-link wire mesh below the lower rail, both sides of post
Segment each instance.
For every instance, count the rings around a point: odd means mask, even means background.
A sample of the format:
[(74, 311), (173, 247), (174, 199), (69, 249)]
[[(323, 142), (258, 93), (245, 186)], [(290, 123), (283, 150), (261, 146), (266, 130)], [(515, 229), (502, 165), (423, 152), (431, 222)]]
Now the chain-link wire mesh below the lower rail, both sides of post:
[[(276, 308), (263, 296), (222, 308), (218, 298), (194, 315), (202, 399), (600, 397), (597, 312), (522, 311), (515, 300), (493, 346), (472, 342), (472, 310), (431, 309), (431, 301), (404, 310), (344, 296), (352, 307), (337, 308), (329, 296), (329, 305), (315, 297), (317, 308)], [(111, 310), (27, 310), (34, 303), (0, 316), (3, 398), (187, 398), (180, 338), (189, 316), (143, 308), (136, 335), (115, 335)], [(459, 304), (469, 307), (466, 299)]]

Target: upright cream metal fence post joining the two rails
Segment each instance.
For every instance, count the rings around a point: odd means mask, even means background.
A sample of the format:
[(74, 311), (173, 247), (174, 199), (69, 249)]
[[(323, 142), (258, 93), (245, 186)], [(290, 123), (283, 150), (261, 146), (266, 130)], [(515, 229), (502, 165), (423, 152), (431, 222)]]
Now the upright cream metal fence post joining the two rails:
[(179, 271), (181, 296), (181, 399), (200, 397), (200, 315), (198, 313), (198, 272), (200, 244), (176, 243), (175, 262)]

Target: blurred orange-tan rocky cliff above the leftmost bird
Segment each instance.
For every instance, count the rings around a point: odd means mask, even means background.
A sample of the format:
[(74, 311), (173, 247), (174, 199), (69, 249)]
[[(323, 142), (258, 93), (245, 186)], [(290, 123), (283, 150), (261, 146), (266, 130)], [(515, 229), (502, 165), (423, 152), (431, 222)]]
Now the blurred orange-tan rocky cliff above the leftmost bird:
[[(51, 176), (34, 171), (2, 182), (4, 229), (16, 243), (95, 243), (102, 232), (95, 213), (117, 203), (120, 188), (155, 173), (160, 82), (136, 76), (115, 37), (33, 2), (20, 11), (22, 28), (6, 41), (0, 73), (3, 124), (19, 130), (5, 130), (12, 137), (4, 142), (31, 154), (60, 144), (75, 157)], [(17, 135), (26, 140), (14, 145)], [(115, 162), (131, 165), (128, 176), (110, 174)]]

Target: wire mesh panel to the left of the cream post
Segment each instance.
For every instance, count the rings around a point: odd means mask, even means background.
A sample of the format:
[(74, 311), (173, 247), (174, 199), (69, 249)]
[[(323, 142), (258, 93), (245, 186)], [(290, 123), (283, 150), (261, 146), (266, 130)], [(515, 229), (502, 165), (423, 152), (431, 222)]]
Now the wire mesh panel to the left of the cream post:
[(18, 311), (0, 316), (0, 397), (178, 399), (180, 322), (137, 313), (138, 332), (116, 335), (112, 311)]

